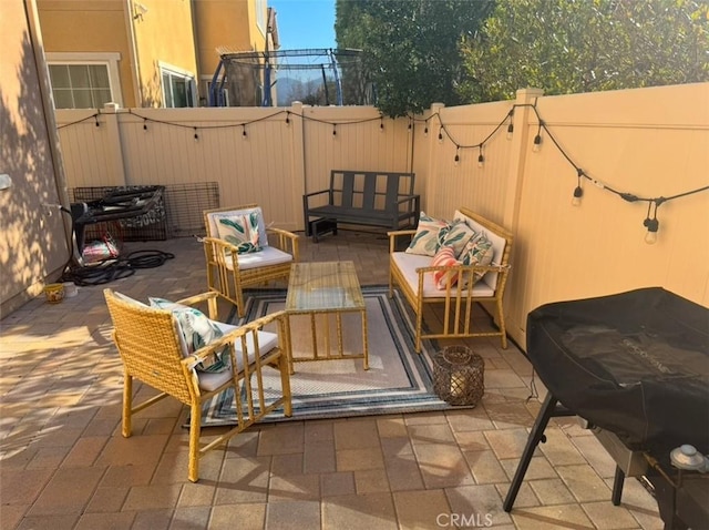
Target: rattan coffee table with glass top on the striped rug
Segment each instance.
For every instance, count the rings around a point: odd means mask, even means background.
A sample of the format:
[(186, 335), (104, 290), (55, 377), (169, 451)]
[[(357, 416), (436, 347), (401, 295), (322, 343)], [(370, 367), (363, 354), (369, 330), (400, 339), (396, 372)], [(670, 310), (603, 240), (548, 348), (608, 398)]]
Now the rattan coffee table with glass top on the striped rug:
[[(289, 316), (309, 315), (312, 340), (311, 355), (291, 355), (294, 361), (328, 359), (363, 359), (369, 369), (367, 342), (367, 308), (352, 262), (294, 263), (288, 282), (286, 312)], [(351, 353), (345, 348), (342, 317), (346, 313), (359, 313), (362, 320), (362, 351)], [(320, 317), (320, 318), (318, 318)], [(330, 323), (335, 319), (337, 337), (331, 340)], [(292, 337), (288, 318), (288, 337)], [(318, 329), (317, 320), (320, 320)], [(292, 345), (291, 345), (292, 346)], [(292, 349), (292, 348), (290, 348)]]

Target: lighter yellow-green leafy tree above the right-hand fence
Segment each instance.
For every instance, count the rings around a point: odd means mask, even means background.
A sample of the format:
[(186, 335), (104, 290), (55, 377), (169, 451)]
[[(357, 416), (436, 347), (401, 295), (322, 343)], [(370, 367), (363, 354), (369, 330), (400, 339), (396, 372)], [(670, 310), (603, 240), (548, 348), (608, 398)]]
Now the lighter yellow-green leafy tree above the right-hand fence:
[(462, 44), (467, 101), (701, 82), (709, 3), (693, 0), (501, 1)]

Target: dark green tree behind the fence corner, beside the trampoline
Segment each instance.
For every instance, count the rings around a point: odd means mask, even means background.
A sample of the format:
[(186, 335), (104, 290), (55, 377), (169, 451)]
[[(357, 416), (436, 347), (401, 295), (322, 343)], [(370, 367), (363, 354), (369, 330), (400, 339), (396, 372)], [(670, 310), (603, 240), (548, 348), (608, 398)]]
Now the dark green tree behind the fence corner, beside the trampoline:
[(463, 102), (460, 45), (491, 11), (491, 0), (337, 0), (339, 48), (363, 51), (363, 69), (389, 116), (433, 102)]

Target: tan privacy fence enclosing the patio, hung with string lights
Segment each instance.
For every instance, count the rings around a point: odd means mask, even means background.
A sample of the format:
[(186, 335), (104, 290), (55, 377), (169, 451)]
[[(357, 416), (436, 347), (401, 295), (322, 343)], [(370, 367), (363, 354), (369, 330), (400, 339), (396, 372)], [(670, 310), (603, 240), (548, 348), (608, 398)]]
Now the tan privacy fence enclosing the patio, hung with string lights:
[(709, 83), (530, 89), (397, 120), (302, 105), (56, 118), (69, 188), (216, 182), (222, 205), (259, 203), (290, 230), (330, 170), (413, 171), (427, 213), (466, 206), (514, 233), (505, 307), (522, 345), (527, 313), (549, 302), (662, 286), (709, 306)]

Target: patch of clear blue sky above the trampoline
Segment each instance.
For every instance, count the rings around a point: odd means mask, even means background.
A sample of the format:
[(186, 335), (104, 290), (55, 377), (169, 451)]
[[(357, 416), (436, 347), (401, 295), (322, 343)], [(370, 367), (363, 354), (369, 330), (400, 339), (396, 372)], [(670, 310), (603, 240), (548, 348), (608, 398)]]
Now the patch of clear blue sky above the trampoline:
[(337, 48), (335, 0), (268, 0), (278, 20), (281, 50)]

